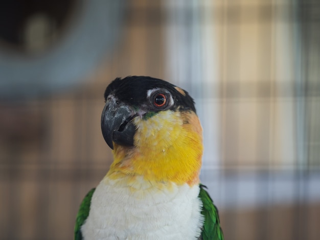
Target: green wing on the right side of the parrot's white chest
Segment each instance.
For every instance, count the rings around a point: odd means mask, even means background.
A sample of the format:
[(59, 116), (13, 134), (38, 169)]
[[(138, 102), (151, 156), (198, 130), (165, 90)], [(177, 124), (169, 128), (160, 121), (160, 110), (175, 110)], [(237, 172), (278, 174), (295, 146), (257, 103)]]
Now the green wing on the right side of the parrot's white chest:
[(202, 201), (201, 214), (204, 216), (201, 240), (224, 240), (223, 232), (220, 226), (219, 213), (217, 207), (213, 204), (212, 199), (204, 185), (200, 184), (199, 198)]

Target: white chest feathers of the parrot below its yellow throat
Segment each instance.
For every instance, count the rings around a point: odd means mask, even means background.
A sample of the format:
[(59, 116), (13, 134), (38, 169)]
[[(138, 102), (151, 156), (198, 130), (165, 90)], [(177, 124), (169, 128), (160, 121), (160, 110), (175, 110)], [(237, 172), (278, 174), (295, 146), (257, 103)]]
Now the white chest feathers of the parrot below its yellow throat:
[(82, 226), (84, 239), (197, 239), (201, 232), (199, 186), (152, 186), (136, 179), (131, 187), (103, 179)]

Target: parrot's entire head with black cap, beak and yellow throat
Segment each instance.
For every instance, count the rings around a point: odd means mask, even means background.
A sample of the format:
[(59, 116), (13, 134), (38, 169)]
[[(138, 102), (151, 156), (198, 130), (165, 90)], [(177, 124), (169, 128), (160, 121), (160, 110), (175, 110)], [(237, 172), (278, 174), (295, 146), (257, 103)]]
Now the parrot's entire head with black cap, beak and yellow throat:
[(105, 91), (101, 128), (110, 170), (148, 180), (196, 183), (202, 128), (189, 94), (150, 77), (116, 79)]

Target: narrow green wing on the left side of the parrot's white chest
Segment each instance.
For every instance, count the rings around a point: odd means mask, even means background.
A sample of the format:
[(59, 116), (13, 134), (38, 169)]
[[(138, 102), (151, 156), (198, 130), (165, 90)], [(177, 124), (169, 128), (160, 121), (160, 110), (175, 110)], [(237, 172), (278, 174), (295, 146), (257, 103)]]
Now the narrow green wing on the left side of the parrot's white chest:
[(82, 203), (80, 205), (80, 208), (77, 214), (77, 219), (76, 219), (75, 237), (74, 237), (75, 240), (83, 239), (82, 233), (81, 233), (81, 226), (83, 225), (84, 221), (87, 219), (89, 215), (91, 199), (95, 190), (96, 188), (91, 189), (89, 193), (87, 193), (87, 195), (82, 200)]

